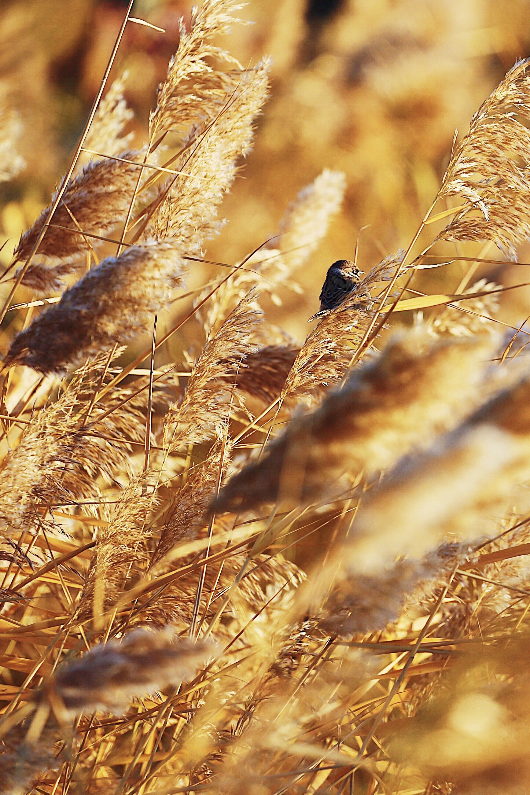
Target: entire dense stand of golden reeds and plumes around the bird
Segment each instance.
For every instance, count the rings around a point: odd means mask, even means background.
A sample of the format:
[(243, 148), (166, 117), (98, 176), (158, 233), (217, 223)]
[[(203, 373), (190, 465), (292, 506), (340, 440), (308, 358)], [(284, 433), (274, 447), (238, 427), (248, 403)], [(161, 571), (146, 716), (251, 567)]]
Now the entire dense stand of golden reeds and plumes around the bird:
[[(269, 93), (240, 9), (181, 21), (137, 149), (109, 85), (0, 282), (0, 793), (523, 793), (529, 332), (464, 244), (530, 240), (530, 61), (300, 343), (270, 310), (345, 176), (205, 248)], [(2, 108), (3, 180), (20, 135)]]

